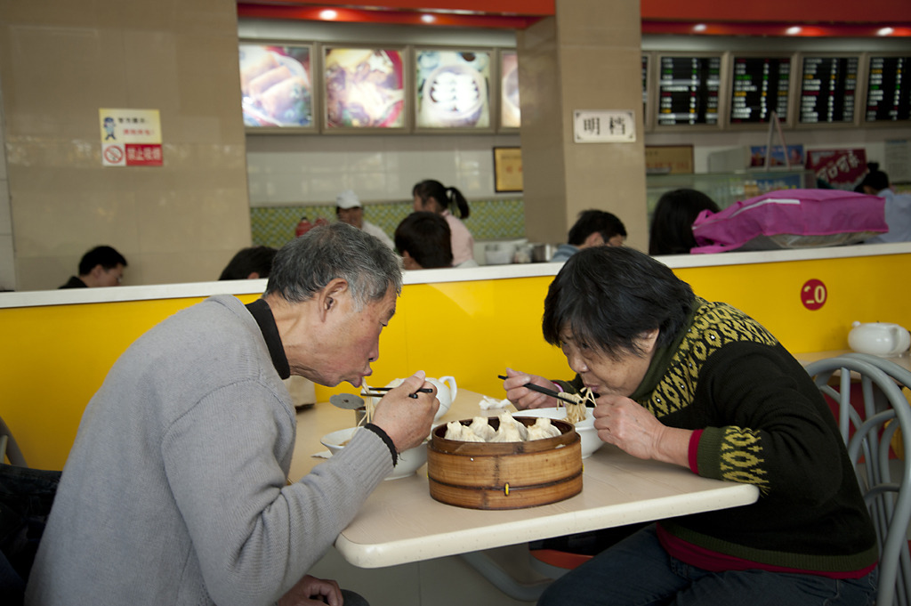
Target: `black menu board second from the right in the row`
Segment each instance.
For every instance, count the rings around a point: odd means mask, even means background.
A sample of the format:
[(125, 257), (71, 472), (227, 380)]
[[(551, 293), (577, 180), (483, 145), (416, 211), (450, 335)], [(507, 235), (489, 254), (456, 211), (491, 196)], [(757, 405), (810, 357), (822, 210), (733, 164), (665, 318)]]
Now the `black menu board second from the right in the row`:
[(800, 91), (801, 124), (853, 123), (856, 56), (805, 56)]

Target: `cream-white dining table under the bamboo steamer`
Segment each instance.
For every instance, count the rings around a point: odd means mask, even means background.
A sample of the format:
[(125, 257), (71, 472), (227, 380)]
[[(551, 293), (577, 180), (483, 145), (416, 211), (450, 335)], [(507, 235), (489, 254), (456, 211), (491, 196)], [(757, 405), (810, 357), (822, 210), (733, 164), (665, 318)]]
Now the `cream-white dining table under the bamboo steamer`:
[[(496, 416), (482, 395), (459, 389), (439, 422)], [(324, 458), (319, 438), (354, 425), (354, 414), (329, 403), (298, 413), (297, 444), (289, 478), (302, 478)], [(583, 488), (575, 497), (534, 508), (460, 508), (430, 497), (426, 466), (407, 478), (384, 481), (343, 529), (335, 547), (361, 568), (489, 550), (594, 529), (748, 505), (759, 498), (749, 484), (701, 478), (689, 469), (641, 460), (604, 445), (584, 459)]]

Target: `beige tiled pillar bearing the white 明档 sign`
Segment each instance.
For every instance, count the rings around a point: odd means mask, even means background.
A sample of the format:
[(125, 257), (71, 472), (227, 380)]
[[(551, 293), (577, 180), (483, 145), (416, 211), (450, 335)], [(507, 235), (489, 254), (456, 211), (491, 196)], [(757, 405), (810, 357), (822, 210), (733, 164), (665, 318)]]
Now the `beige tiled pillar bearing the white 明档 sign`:
[[(526, 233), (563, 242), (579, 211), (600, 209), (648, 250), (639, 0), (557, 0), (518, 32)], [(632, 110), (631, 143), (575, 143), (574, 110)]]

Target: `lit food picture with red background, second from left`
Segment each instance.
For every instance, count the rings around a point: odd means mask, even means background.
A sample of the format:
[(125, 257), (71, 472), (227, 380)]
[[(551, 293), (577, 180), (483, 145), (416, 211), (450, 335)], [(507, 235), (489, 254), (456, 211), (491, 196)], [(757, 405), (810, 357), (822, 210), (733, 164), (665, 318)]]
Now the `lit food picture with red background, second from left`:
[(325, 48), (325, 127), (404, 128), (403, 51)]

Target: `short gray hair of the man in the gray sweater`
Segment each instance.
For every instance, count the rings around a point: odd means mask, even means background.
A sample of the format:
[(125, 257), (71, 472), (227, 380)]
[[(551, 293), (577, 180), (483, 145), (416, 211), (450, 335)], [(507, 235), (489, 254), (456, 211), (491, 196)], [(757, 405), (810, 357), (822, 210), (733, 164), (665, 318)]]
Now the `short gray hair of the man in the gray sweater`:
[(382, 241), (347, 223), (321, 225), (276, 253), (265, 294), (302, 303), (335, 278), (348, 282), (355, 308), (361, 310), (382, 300), (390, 287), (402, 293), (402, 260)]

